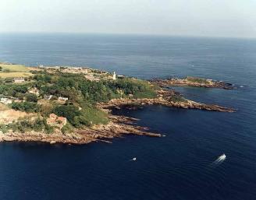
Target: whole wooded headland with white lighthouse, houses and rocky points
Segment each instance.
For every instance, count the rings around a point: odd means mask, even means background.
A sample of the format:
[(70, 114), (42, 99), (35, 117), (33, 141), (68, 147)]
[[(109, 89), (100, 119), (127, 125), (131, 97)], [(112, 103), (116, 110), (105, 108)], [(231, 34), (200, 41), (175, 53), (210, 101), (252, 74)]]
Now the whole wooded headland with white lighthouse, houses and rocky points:
[[(187, 100), (174, 89), (166, 88), (181, 80), (148, 82), (86, 67), (26, 67), (1, 63), (0, 66), (0, 142), (87, 144), (111, 142), (112, 138), (127, 134), (162, 136), (138, 126), (136, 118), (112, 114), (112, 109), (125, 107), (163, 105), (235, 111)], [(19, 77), (12, 77), (17, 73)], [(221, 82), (202, 84), (227, 89)], [(180, 85), (188, 86), (188, 83)]]

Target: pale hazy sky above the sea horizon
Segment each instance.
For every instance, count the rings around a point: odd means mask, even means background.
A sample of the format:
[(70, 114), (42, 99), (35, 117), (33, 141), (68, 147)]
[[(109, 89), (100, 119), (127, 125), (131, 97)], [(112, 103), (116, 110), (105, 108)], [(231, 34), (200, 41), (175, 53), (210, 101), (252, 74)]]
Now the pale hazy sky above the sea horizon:
[(0, 32), (256, 37), (256, 0), (0, 0)]

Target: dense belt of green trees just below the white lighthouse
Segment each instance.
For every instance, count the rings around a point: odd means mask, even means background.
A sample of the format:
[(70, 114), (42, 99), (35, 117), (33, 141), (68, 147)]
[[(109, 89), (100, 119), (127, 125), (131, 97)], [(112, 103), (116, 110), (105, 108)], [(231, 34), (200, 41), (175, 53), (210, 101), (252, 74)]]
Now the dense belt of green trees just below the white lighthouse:
[(91, 104), (106, 102), (112, 98), (127, 97), (152, 98), (156, 96), (155, 89), (146, 81), (137, 79), (117, 79), (114, 81), (101, 80), (91, 82), (82, 75), (36, 75), (34, 86), (40, 87), (42, 93), (54, 96), (66, 96), (70, 100), (78, 100), (84, 97)]

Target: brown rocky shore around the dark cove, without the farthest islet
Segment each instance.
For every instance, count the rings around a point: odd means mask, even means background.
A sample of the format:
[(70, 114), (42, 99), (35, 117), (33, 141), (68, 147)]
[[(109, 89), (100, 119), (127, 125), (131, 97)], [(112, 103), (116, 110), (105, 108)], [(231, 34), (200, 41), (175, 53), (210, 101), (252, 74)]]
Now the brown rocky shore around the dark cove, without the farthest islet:
[(108, 113), (109, 122), (107, 125), (94, 125), (91, 128), (76, 129), (72, 133), (62, 134), (62, 132), (54, 132), (46, 134), (44, 132), (0, 132), (0, 142), (46, 142), (50, 144), (76, 144), (83, 145), (90, 142), (108, 142), (112, 143), (111, 139), (122, 137), (123, 135), (145, 135), (150, 137), (163, 137), (165, 135), (150, 132), (149, 128), (134, 125), (137, 118), (129, 118), (123, 115), (113, 115), (112, 109), (130, 106), (144, 105), (163, 105), (166, 107), (178, 107), (183, 109), (199, 109), (204, 111), (219, 111), (219, 112), (235, 112), (234, 109), (221, 107), (218, 105), (208, 105), (197, 103), (192, 100), (187, 100), (183, 103), (170, 102), (158, 97), (155, 99), (114, 99), (107, 103), (98, 103), (97, 107)]

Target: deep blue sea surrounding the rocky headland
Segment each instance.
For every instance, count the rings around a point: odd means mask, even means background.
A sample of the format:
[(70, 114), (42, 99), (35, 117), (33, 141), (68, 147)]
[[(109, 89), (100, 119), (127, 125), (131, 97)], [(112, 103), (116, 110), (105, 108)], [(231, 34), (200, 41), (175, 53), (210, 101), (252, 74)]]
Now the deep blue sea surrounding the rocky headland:
[[(192, 100), (236, 108), (232, 114), (162, 106), (121, 112), (164, 138), (1, 143), (0, 199), (256, 199), (256, 40), (0, 34), (0, 61), (88, 65), (142, 79), (198, 75), (238, 86), (176, 88)], [(222, 153), (226, 160), (213, 164)]]

